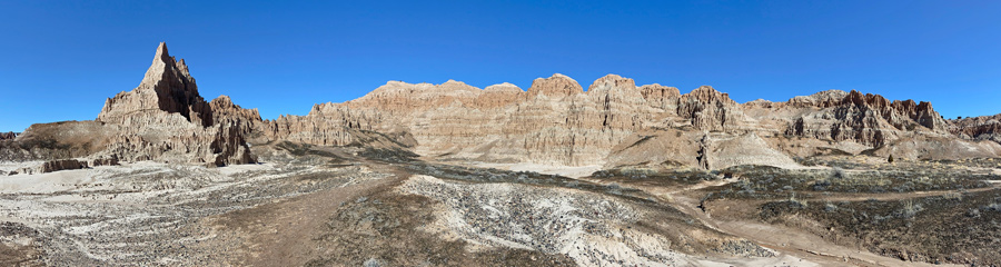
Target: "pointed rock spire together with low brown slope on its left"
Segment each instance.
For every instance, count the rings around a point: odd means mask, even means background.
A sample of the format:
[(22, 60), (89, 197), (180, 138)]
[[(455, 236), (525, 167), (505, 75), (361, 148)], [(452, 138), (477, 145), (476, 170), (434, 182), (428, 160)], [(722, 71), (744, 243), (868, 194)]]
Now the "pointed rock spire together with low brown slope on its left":
[[(176, 61), (160, 43), (139, 86), (109, 98), (95, 121), (33, 125), (16, 144), (0, 146), (0, 158), (247, 164), (255, 158), (246, 139), (259, 121), (257, 110), (228, 97), (206, 102), (185, 61)], [(54, 162), (50, 167), (59, 169), (70, 161)]]

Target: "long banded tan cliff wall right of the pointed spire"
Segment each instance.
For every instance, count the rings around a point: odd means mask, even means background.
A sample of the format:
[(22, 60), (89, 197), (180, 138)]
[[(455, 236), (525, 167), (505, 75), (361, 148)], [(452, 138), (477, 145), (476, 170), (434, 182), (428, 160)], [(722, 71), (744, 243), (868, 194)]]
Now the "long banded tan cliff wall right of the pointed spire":
[[(268, 120), (260, 129), (268, 140), (326, 146), (381, 132), (406, 137), (400, 141), (414, 151), (440, 159), (714, 169), (794, 165), (791, 156), (812, 156), (824, 146), (861, 152), (902, 139), (954, 138), (928, 102), (830, 90), (740, 105), (708, 86), (682, 95), (615, 75), (586, 91), (563, 75), (538, 78), (525, 91), (511, 83), (480, 90), (452, 80), (390, 81), (359, 99), (317, 105), (307, 116)], [(816, 141), (799, 145), (789, 136)], [(991, 155), (985, 149), (970, 155)]]

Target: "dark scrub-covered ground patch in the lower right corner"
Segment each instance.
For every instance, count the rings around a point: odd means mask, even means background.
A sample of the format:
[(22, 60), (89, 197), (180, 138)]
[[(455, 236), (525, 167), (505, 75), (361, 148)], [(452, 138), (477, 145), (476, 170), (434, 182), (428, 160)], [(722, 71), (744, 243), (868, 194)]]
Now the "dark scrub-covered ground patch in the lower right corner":
[[(799, 225), (815, 220), (816, 233), (846, 246), (905, 260), (972, 266), (1001, 265), (1001, 190), (901, 200), (797, 205), (766, 202), (761, 218)], [(807, 228), (811, 229), (811, 228)], [(835, 231), (830, 231), (835, 229)]]

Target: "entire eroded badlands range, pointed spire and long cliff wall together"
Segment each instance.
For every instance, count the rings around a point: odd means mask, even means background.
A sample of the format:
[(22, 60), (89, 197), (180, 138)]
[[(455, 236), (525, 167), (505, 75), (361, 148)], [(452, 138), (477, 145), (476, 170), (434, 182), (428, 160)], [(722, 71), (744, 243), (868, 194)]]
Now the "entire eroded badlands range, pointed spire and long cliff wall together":
[(229, 97), (206, 101), (185, 60), (160, 43), (139, 86), (109, 98), (96, 120), (4, 135), (0, 159), (224, 166), (255, 162), (252, 144), (375, 141), (439, 160), (720, 169), (794, 166), (797, 157), (832, 152), (999, 157), (997, 121), (950, 121), (930, 102), (854, 90), (737, 103), (708, 86), (681, 93), (608, 75), (584, 90), (558, 73), (527, 90), (390, 81), (351, 101), (316, 105), (306, 116), (261, 120)]

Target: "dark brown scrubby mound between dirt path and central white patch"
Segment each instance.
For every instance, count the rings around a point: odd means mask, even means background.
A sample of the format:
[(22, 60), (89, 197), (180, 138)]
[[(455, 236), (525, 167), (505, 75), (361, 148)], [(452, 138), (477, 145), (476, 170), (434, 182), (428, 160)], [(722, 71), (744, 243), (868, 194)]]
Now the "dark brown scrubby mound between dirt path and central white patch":
[(434, 233), (419, 229), (434, 222), (433, 204), (434, 200), (427, 197), (388, 192), (365, 201), (346, 202), (316, 240), (324, 251), (306, 266), (361, 266), (374, 261), (373, 258), (385, 266), (525, 266), (526, 263), (574, 266), (564, 255), (527, 249), (460, 253), (465, 251), (466, 241), (438, 238)]

